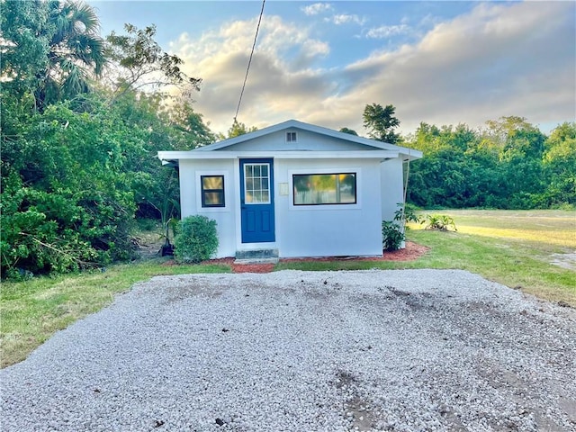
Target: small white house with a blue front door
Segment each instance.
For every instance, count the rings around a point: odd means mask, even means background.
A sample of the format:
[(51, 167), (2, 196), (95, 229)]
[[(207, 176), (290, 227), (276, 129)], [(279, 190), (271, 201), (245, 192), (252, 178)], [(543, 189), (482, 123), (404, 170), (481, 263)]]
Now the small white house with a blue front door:
[(374, 257), (422, 153), (290, 120), (158, 157), (179, 166), (182, 217), (217, 221), (217, 257)]

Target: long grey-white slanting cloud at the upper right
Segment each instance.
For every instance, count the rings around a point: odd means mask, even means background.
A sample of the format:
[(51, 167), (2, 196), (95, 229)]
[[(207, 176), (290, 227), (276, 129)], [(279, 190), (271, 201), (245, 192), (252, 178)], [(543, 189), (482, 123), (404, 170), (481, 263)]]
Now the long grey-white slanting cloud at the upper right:
[[(420, 121), (477, 126), (503, 115), (571, 120), (573, 11), (562, 3), (480, 4), (438, 24), (418, 44), (347, 67), (358, 85), (335, 103), (356, 110), (392, 103), (405, 131)], [(366, 101), (367, 94), (380, 100)]]

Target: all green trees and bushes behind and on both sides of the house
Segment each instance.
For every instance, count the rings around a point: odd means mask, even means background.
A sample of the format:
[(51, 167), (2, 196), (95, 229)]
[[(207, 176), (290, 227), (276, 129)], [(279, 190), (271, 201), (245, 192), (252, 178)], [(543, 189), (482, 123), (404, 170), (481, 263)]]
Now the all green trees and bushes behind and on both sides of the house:
[[(202, 79), (161, 49), (154, 26), (126, 24), (102, 37), (94, 9), (81, 2), (0, 6), (3, 277), (130, 259), (137, 218), (179, 216), (177, 172), (160, 165), (157, 150), (225, 138), (193, 109)], [(515, 117), (485, 130), (422, 123), (408, 137), (395, 132), (399, 124), (392, 105), (366, 105), (371, 138), (424, 151), (410, 167), (410, 202), (576, 204), (574, 123), (549, 137)], [(252, 130), (235, 121), (228, 136)]]

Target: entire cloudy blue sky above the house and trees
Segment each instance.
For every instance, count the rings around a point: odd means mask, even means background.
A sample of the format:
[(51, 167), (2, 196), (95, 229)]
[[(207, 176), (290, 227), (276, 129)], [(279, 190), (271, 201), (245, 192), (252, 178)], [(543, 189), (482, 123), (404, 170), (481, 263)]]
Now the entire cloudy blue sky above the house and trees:
[[(196, 112), (225, 133), (236, 112), (261, 2), (90, 1), (103, 35), (157, 26), (201, 77)], [(365, 134), (367, 103), (420, 121), (482, 126), (526, 117), (546, 133), (576, 120), (576, 3), (267, 0), (238, 121), (289, 119)]]

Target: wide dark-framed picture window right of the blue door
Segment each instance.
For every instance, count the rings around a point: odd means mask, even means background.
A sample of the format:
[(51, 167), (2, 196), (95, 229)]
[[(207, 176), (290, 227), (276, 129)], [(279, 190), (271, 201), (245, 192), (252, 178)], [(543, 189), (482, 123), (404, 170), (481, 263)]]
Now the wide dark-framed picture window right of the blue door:
[(356, 173), (294, 174), (294, 205), (356, 204)]

